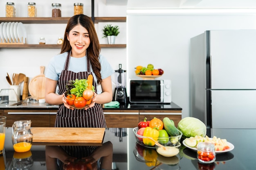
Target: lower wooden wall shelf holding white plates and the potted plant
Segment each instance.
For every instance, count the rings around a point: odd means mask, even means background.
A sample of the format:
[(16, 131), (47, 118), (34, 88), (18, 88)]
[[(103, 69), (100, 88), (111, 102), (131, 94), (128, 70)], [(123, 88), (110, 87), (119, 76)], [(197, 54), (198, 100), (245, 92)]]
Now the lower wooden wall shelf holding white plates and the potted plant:
[[(58, 44), (0, 44), (0, 48), (61, 48)], [(126, 48), (126, 44), (101, 44), (101, 48)]]

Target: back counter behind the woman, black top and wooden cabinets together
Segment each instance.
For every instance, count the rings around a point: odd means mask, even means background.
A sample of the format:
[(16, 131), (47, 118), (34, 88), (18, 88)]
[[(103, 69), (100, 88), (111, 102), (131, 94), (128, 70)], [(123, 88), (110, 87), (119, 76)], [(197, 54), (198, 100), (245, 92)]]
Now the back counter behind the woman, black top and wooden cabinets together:
[[(38, 102), (22, 102), (16, 105), (0, 105), (0, 116), (7, 116), (7, 127), (17, 120), (31, 120), (34, 127), (54, 127), (58, 105)], [(146, 117), (169, 117), (177, 123), (182, 118), (182, 108), (174, 102), (169, 104), (120, 104), (119, 107), (104, 107), (107, 127), (131, 128), (137, 126)], [(120, 126), (122, 122), (122, 126)]]

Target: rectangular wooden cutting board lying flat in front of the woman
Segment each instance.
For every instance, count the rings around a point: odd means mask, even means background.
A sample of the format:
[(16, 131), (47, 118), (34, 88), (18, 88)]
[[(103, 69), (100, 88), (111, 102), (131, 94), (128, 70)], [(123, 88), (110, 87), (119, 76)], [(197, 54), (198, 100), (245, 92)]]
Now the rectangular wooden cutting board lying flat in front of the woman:
[[(61, 145), (76, 143), (84, 146), (101, 146), (105, 128), (54, 128), (32, 127), (33, 144)], [(55, 144), (54, 144), (55, 143)]]

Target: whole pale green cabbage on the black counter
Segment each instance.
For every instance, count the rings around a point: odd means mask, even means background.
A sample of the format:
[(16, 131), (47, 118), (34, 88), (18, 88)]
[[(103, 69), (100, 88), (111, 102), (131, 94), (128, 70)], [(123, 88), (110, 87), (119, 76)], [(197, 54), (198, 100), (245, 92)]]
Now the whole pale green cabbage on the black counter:
[(206, 135), (206, 126), (205, 124), (193, 117), (186, 117), (180, 120), (178, 123), (177, 129), (182, 131), (183, 137), (195, 137), (196, 135), (205, 137)]

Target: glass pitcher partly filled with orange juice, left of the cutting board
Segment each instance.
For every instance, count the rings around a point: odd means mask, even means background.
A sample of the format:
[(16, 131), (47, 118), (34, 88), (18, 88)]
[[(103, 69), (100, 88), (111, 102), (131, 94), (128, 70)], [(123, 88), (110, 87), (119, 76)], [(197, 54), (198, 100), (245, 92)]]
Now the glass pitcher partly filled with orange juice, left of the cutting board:
[(16, 152), (27, 152), (32, 145), (31, 120), (18, 120), (12, 125), (12, 144)]

